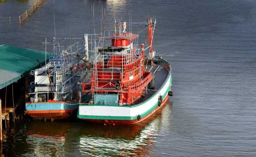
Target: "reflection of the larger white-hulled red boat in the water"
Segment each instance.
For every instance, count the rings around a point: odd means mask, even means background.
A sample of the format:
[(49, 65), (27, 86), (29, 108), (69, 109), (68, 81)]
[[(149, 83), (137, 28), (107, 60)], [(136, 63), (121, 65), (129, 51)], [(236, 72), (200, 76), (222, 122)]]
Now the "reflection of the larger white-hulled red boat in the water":
[[(148, 156), (154, 152), (154, 137), (171, 118), (170, 105), (141, 123), (133, 125), (86, 124), (94, 126), (84, 130), (79, 151), (84, 156)], [(168, 120), (167, 120), (167, 119)], [(167, 120), (167, 121), (166, 121)], [(170, 122), (170, 121), (169, 121)], [(87, 126), (84, 126), (86, 129)], [(167, 129), (167, 128), (166, 128)]]

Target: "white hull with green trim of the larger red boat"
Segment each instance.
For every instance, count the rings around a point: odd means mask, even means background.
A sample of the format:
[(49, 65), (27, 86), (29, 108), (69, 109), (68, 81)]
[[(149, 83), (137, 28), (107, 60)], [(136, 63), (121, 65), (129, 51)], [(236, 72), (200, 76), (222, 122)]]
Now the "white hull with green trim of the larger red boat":
[[(171, 67), (168, 62), (161, 59), (163, 67), (168, 69), (169, 74), (159, 90), (147, 100), (134, 106), (118, 106), (118, 105), (79, 105), (77, 118), (92, 123), (104, 124), (134, 124), (139, 123), (150, 117), (154, 112), (160, 109), (167, 101), (168, 92), (171, 88), (172, 75)], [(159, 106), (159, 97), (162, 96), (163, 101)]]

